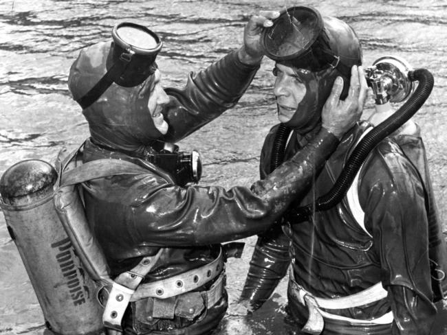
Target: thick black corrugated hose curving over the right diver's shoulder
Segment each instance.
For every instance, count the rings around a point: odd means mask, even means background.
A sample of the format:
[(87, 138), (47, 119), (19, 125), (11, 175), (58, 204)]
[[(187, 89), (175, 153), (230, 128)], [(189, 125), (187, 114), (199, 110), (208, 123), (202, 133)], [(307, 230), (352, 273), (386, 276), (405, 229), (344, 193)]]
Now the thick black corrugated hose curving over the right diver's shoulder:
[(375, 126), (358, 143), (349, 156), (345, 168), (327, 194), (317, 198), (315, 203), (292, 210), (291, 214), (294, 216), (294, 220), (291, 223), (303, 222), (312, 215), (313, 211), (325, 211), (340, 203), (369, 152), (421, 108), (433, 89), (433, 75), (426, 69), (416, 69), (408, 72), (408, 79), (412, 82), (419, 81), (413, 95), (391, 117)]

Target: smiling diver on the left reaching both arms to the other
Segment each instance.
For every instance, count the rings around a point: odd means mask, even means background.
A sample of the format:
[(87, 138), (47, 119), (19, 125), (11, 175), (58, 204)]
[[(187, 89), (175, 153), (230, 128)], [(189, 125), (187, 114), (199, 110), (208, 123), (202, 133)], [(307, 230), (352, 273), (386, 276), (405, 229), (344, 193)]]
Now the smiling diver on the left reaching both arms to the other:
[[(182, 279), (182, 274), (191, 269), (201, 275), (210, 273), (209, 269), (204, 272), (208, 264), (221, 264), (227, 257), (221, 255), (221, 243), (268, 229), (311, 183), (314, 171), (323, 167), (342, 134), (359, 119), (367, 87), (362, 71), (354, 70), (347, 100), (338, 100), (342, 85), (334, 85), (323, 111), (323, 126), (314, 139), (252, 187), (178, 185), (176, 176), (146, 160), (157, 154), (160, 143), (179, 141), (235, 106), (259, 69), (262, 27), (271, 25), (270, 19), (277, 15), (265, 12), (253, 16), (244, 30), (243, 47), (207, 69), (191, 73), (184, 89), (163, 89), (160, 71), (150, 65), (153, 71), (140, 84), (111, 84), (98, 100), (83, 108), (91, 134), (83, 148), (84, 162), (114, 158), (147, 169), (142, 174), (83, 183), (87, 219), (112, 275), (131, 269), (143, 256), (155, 255), (160, 248), (164, 251), (142, 285)], [(69, 73), (74, 100), (82, 101), (105, 76), (111, 49), (107, 42), (80, 52)], [(124, 332), (210, 332), (228, 305), (223, 264), (217, 268), (217, 277), (184, 294), (133, 301), (124, 317)], [(222, 284), (216, 290), (219, 280)]]

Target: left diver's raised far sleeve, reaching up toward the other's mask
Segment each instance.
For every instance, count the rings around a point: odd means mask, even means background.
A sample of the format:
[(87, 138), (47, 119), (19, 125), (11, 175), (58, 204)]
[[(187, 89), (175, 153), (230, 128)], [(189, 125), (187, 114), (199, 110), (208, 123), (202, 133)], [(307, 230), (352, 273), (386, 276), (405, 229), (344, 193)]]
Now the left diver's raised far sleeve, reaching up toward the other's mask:
[(258, 69), (259, 65), (243, 64), (232, 51), (208, 68), (190, 73), (184, 89), (166, 89), (172, 97), (163, 112), (169, 130), (160, 139), (177, 142), (235, 106)]

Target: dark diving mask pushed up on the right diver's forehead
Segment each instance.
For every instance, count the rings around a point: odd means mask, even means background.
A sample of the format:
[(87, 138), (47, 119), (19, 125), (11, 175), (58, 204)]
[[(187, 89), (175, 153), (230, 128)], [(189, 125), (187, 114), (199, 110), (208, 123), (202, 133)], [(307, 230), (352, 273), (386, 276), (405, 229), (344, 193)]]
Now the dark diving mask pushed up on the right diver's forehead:
[[(316, 72), (346, 67), (331, 43), (330, 31), (317, 10), (305, 6), (287, 8), (261, 37), (265, 55), (276, 62)], [(340, 69), (344, 73), (350, 69)]]

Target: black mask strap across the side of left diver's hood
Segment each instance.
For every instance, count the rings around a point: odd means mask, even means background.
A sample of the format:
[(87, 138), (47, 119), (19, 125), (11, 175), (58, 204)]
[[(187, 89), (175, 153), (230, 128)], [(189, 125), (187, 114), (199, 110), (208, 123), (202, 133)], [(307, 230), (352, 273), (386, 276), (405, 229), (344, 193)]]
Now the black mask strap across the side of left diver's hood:
[(95, 84), (95, 86), (93, 86), (90, 91), (85, 93), (83, 97), (76, 100), (76, 102), (78, 102), (78, 104), (80, 104), (83, 109), (96, 102), (96, 100), (98, 100), (99, 97), (105, 91), (107, 91), (113, 81), (115, 81), (116, 78), (119, 78), (126, 70), (127, 65), (129, 65), (129, 62), (131, 62), (132, 56), (133, 51), (129, 52), (128, 54), (123, 53), (120, 56), (120, 61), (113, 63), (109, 71), (107, 71), (107, 73), (102, 76), (102, 78)]

